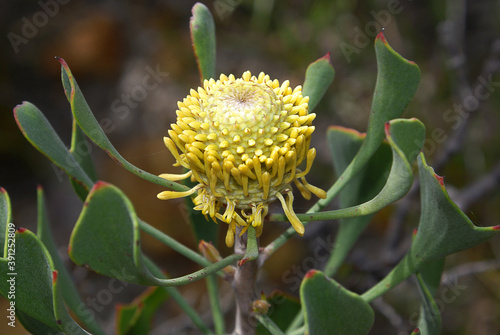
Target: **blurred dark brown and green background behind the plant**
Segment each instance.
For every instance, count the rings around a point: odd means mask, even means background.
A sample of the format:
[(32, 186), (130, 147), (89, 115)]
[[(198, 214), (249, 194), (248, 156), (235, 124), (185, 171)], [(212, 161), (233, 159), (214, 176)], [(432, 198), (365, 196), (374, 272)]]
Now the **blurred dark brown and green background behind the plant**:
[[(479, 226), (500, 224), (500, 2), (495, 0), (391, 1), (201, 1), (213, 13), (217, 33), (217, 72), (241, 75), (264, 71), (300, 85), (309, 63), (331, 52), (335, 80), (315, 112), (313, 146), (318, 149), (310, 182), (327, 189), (335, 180), (325, 141), (329, 125), (365, 131), (376, 80), (373, 40), (383, 27), (390, 45), (415, 61), (422, 72), (414, 101), (404, 117), (427, 126), (424, 153), (445, 177), (447, 189)], [(154, 174), (176, 172), (163, 145), (175, 120), (176, 103), (200, 85), (189, 34), (195, 1), (41, 0), (0, 3), (0, 186), (11, 198), (14, 223), (36, 227), (36, 187), (43, 186), (53, 234), (84, 297), (95, 297), (109, 278), (74, 267), (66, 248), (81, 202), (67, 177), (34, 149), (17, 128), (12, 109), (22, 101), (40, 108), (68, 144), (71, 113), (55, 56), (69, 64), (96, 118), (112, 143), (131, 163)], [(145, 85), (145, 80), (149, 85)], [(182, 201), (159, 201), (161, 187), (123, 170), (94, 145), (99, 178), (120, 187), (146, 222), (196, 248)], [(299, 197), (297, 197), (297, 200)], [(311, 205), (296, 202), (296, 212)], [(418, 189), (375, 216), (342, 267), (339, 282), (363, 292), (407, 250), (419, 217)], [(279, 208), (276, 208), (279, 210)], [(321, 260), (305, 262), (318, 245), (328, 252), (335, 222), (308, 226), (262, 271), (259, 290), (281, 289), (298, 296), (290, 274), (302, 276)], [(265, 245), (285, 224), (268, 224)], [(222, 227), (221, 234), (226, 227)], [(222, 254), (231, 252), (220, 239)], [(443, 334), (500, 333), (500, 239), (447, 258), (445, 284), (438, 292)], [(91, 243), (91, 241), (89, 241)], [(144, 251), (172, 276), (196, 268), (172, 250), (144, 236)], [(295, 270), (294, 270), (295, 269)], [(221, 282), (221, 304), (231, 320), (233, 299)], [(128, 303), (145, 288), (129, 284), (97, 318), (113, 333), (114, 305)], [(181, 288), (209, 320), (203, 281)], [(452, 292), (452, 293), (450, 293)], [(1, 319), (6, 301), (0, 299)], [(409, 280), (374, 303), (371, 334), (408, 334), (418, 312), (415, 284)], [(209, 322), (209, 321), (207, 321)], [(232, 329), (228, 321), (228, 329)], [(1, 333), (12, 333), (0, 322)], [(25, 333), (19, 326), (17, 334)], [(196, 334), (190, 320), (167, 303), (154, 334)]]

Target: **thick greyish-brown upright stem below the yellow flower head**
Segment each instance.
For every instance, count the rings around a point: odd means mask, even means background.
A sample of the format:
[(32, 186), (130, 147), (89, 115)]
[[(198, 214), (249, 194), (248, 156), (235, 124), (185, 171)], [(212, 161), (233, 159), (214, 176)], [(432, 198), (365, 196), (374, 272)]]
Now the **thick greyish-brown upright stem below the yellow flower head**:
[[(239, 236), (239, 234), (240, 229), (237, 229), (234, 251), (237, 254), (245, 254), (247, 235), (243, 234)], [(257, 270), (257, 262), (250, 260), (238, 266), (234, 275), (233, 287), (236, 293), (236, 324), (233, 335), (255, 334), (257, 320), (253, 316), (252, 302), (257, 300), (255, 292)]]

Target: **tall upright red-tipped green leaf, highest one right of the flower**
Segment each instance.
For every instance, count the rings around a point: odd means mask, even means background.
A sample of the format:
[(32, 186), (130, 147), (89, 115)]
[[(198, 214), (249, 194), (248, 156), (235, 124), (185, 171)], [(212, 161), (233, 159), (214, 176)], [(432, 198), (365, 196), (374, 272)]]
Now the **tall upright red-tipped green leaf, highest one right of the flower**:
[(375, 39), (375, 54), (378, 73), (366, 139), (355, 159), (328, 190), (326, 199), (318, 201), (311, 208), (312, 212), (328, 205), (333, 197), (357, 176), (358, 171), (368, 162), (384, 139), (386, 122), (403, 114), (417, 90), (420, 81), (418, 66), (396, 53), (382, 32)]

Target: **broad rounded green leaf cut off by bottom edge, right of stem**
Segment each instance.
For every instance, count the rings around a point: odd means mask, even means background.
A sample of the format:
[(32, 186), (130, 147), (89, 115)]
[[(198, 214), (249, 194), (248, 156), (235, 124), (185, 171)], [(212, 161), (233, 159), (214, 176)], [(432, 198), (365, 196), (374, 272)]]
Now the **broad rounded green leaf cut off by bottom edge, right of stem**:
[(370, 305), (320, 271), (311, 270), (305, 275), (300, 299), (310, 335), (364, 335), (373, 325)]

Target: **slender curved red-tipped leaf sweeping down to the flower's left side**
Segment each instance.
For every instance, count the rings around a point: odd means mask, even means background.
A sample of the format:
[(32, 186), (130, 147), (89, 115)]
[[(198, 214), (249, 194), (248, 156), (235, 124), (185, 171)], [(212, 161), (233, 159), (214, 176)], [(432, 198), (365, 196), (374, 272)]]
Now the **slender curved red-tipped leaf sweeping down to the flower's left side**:
[[(188, 188), (186, 186), (160, 178), (147, 171), (144, 171), (132, 165), (120, 155), (120, 153), (115, 149), (115, 147), (106, 137), (106, 134), (92, 114), (92, 111), (90, 110), (87, 101), (83, 97), (83, 94), (78, 87), (78, 84), (76, 83), (73, 74), (68, 67), (68, 64), (66, 64), (66, 62), (62, 58), (58, 58), (58, 60), (61, 63), (62, 82), (66, 92), (66, 96), (69, 97), (71, 112), (73, 113), (74, 119), (78, 122), (78, 125), (85, 133), (85, 135), (87, 135), (88, 138), (90, 138), (95, 144), (97, 144), (102, 150), (104, 150), (114, 161), (116, 161), (127, 171), (132, 172), (136, 176), (139, 176), (152, 183), (168, 187), (174, 191), (187, 191)], [(68, 92), (71, 93), (68, 94)], [(89, 177), (87, 178), (90, 179)]]

